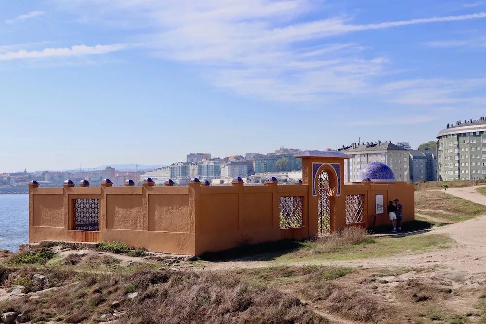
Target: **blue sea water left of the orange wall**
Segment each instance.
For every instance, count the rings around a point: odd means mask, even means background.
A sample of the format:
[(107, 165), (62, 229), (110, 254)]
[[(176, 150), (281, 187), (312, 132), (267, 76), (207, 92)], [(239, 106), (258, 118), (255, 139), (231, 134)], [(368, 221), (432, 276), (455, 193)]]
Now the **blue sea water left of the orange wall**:
[(0, 249), (29, 242), (29, 195), (0, 195)]

